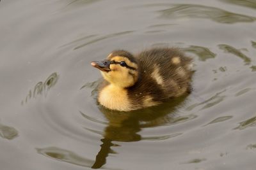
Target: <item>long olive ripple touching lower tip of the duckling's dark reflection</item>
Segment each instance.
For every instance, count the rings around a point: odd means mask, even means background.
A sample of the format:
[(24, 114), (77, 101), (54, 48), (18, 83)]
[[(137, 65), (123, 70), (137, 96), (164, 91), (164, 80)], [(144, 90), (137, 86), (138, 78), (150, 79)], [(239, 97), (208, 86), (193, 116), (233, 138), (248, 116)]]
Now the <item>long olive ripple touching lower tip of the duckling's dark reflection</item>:
[(37, 153), (55, 160), (75, 164), (77, 166), (91, 167), (93, 160), (86, 159), (74, 152), (57, 147), (36, 148)]

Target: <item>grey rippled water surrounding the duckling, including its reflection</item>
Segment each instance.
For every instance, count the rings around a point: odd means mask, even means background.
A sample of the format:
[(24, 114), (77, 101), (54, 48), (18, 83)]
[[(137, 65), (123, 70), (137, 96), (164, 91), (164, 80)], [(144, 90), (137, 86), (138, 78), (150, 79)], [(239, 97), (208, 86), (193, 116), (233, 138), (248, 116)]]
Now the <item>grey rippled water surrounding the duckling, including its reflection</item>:
[[(1, 1), (1, 169), (255, 169), (256, 2)], [(101, 108), (90, 61), (179, 46), (193, 92)]]

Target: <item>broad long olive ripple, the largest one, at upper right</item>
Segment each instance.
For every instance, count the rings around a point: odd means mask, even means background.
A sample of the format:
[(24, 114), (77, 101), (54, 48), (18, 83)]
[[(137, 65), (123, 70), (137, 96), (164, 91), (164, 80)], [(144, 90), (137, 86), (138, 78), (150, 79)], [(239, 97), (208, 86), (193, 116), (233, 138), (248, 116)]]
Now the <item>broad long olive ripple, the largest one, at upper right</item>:
[(177, 4), (172, 8), (159, 11), (163, 18), (206, 18), (223, 24), (254, 22), (255, 17), (232, 13), (220, 8), (200, 4)]

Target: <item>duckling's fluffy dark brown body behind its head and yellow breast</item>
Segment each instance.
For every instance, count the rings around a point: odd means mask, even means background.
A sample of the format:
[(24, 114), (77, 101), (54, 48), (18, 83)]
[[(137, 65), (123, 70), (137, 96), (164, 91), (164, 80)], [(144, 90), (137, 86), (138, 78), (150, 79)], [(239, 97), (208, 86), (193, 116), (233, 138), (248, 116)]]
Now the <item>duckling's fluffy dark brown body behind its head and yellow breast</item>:
[(154, 106), (190, 92), (191, 58), (177, 48), (154, 48), (139, 53), (139, 80), (128, 89), (134, 106)]

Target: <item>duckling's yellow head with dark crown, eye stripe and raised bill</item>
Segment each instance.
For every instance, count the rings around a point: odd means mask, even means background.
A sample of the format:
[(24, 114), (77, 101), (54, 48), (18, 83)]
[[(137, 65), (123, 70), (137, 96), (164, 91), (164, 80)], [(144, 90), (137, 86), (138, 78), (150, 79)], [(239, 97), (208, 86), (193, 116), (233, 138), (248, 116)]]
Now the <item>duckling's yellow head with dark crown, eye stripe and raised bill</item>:
[(110, 53), (106, 60), (91, 62), (100, 69), (103, 78), (117, 87), (131, 87), (138, 80), (138, 64), (133, 55), (124, 50)]

